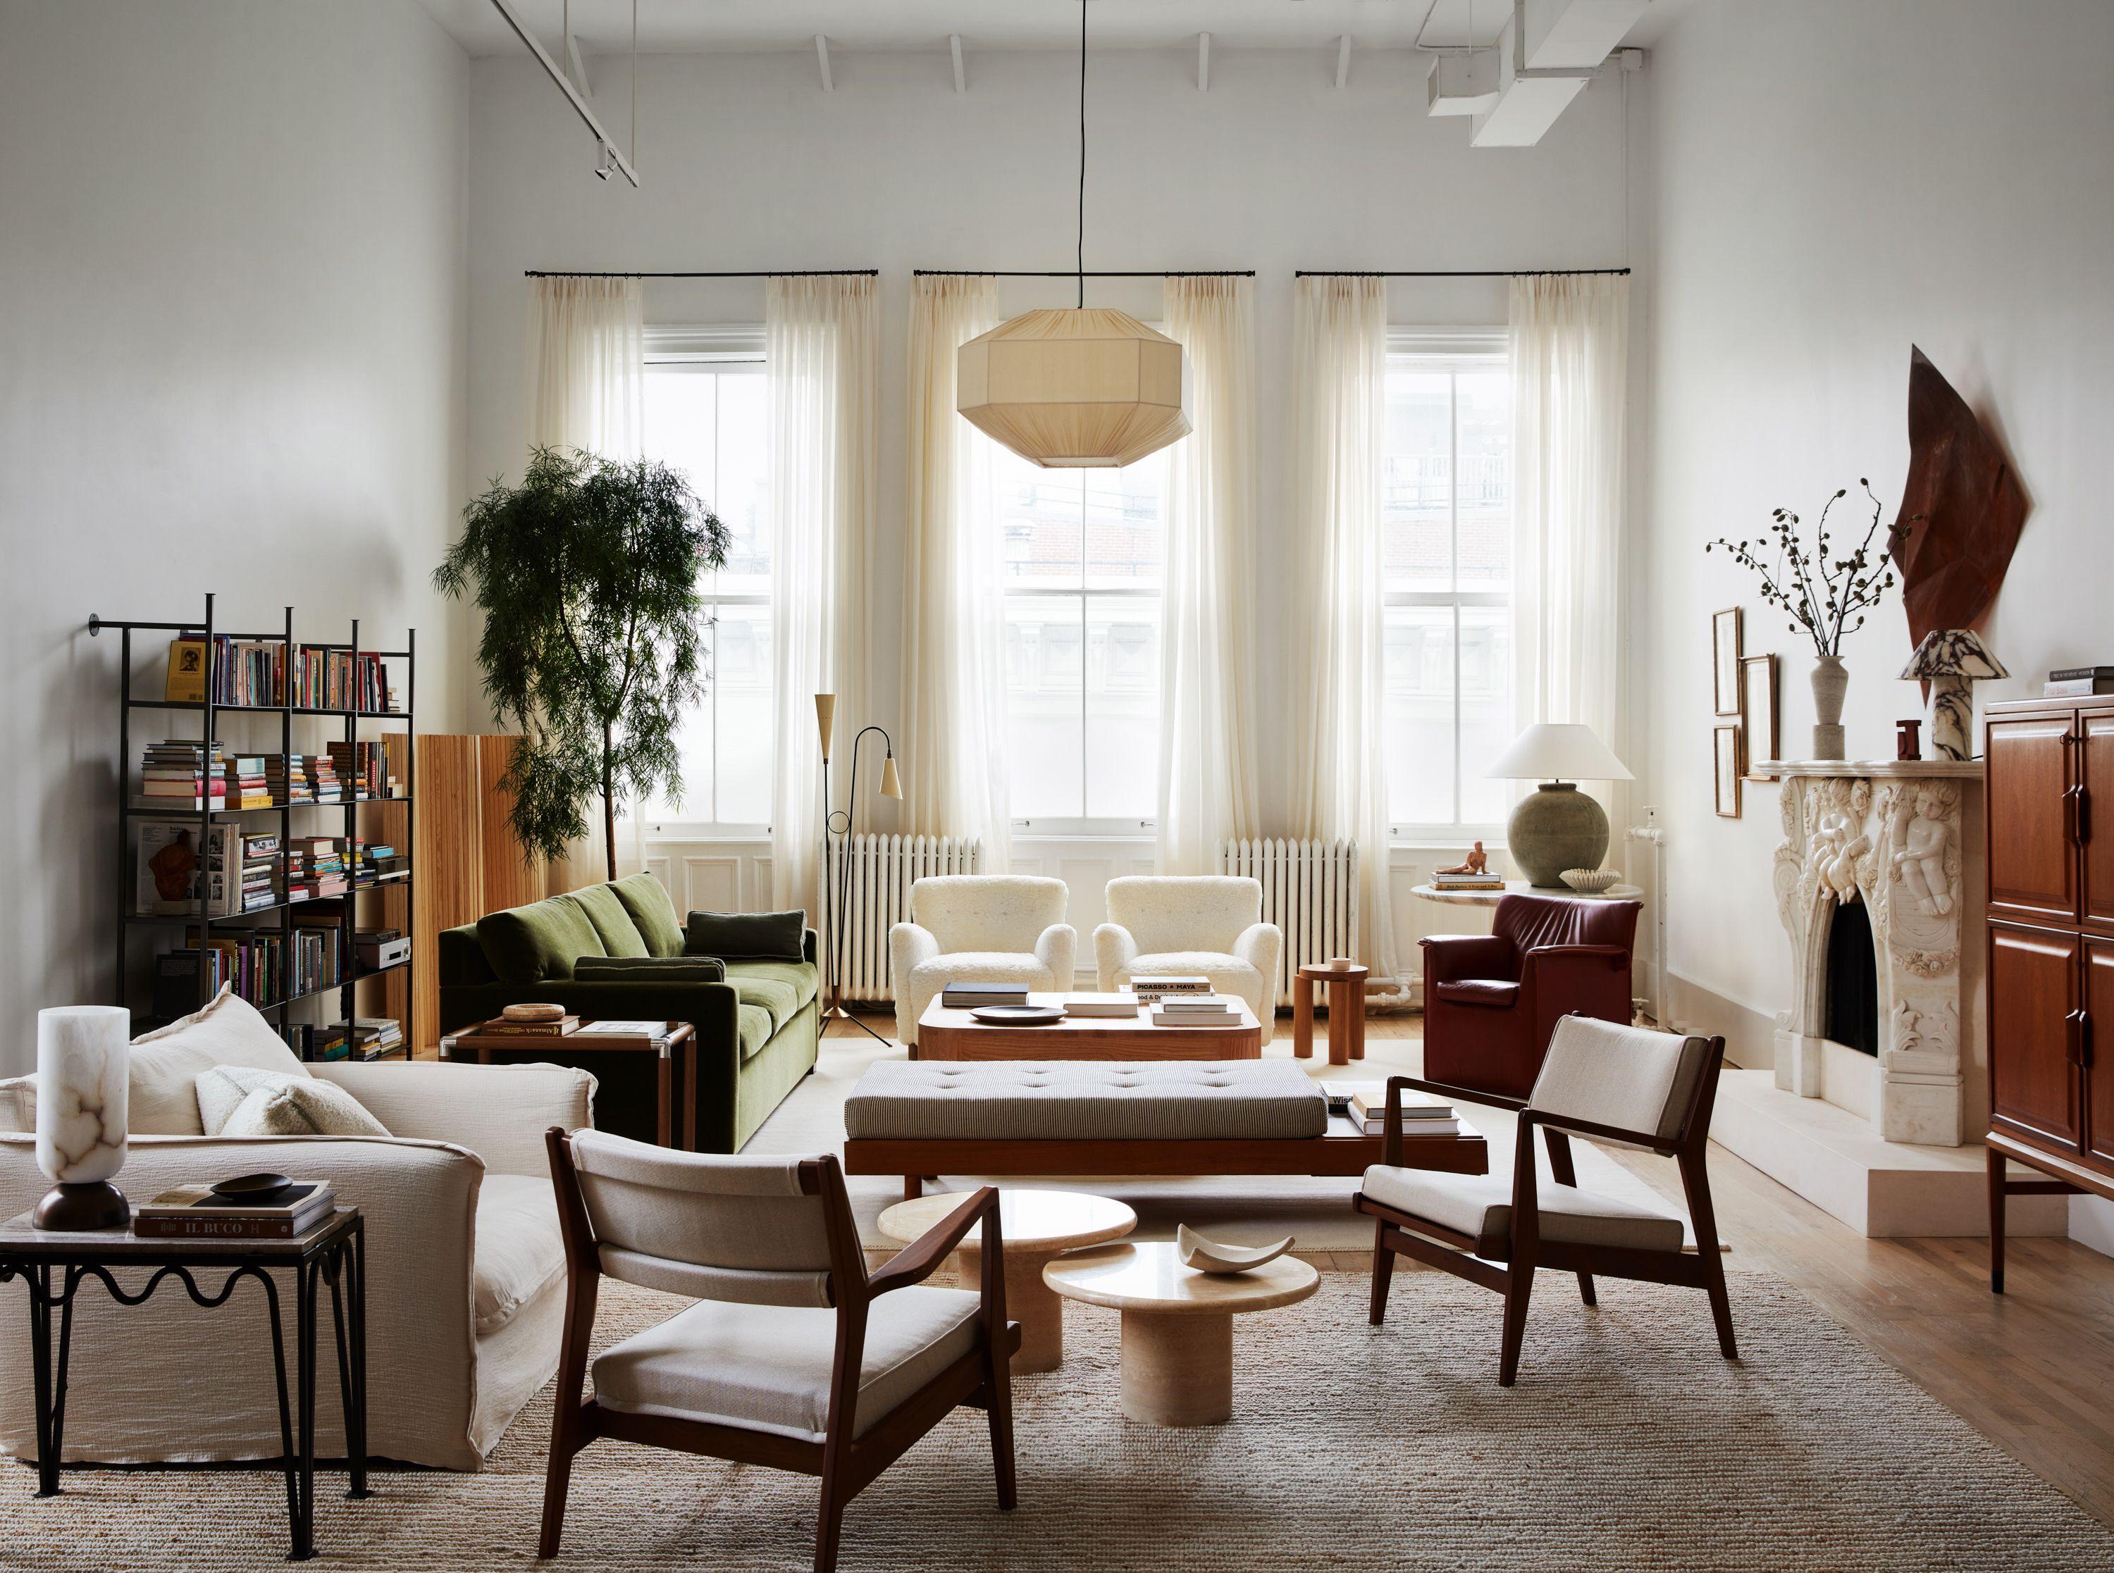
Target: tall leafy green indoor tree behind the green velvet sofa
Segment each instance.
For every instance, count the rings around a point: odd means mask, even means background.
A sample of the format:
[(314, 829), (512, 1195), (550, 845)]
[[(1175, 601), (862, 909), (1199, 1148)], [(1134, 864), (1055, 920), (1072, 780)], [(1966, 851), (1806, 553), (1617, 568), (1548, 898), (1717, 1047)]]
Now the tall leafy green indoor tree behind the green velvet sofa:
[(535, 448), (518, 486), (463, 510), (433, 584), (484, 613), (484, 691), (522, 732), (501, 784), (524, 854), (562, 858), (600, 797), (615, 880), (617, 801), (681, 801), (674, 729), (706, 681), (698, 575), (727, 541), (681, 471), (575, 448)]

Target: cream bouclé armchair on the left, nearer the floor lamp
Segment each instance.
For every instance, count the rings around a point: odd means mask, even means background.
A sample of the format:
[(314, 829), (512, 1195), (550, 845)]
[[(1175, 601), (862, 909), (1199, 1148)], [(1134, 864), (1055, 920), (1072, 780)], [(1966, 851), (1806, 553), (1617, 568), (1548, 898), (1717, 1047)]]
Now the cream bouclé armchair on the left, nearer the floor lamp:
[(911, 920), (888, 930), (896, 1038), (917, 1044), (917, 1017), (949, 983), (1070, 989), (1078, 930), (1063, 920), (1063, 880), (949, 873), (911, 886)]

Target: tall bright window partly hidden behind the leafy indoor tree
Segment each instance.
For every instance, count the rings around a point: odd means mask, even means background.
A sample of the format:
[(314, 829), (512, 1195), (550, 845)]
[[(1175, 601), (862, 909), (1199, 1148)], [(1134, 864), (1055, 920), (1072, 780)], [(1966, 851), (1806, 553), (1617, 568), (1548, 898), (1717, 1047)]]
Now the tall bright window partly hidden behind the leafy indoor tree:
[(647, 457), (689, 476), (734, 535), (727, 567), (700, 586), (710, 681), (676, 732), (683, 803), (649, 803), (647, 816), (761, 831), (772, 818), (769, 402), (761, 336), (696, 347), (712, 338), (647, 347)]

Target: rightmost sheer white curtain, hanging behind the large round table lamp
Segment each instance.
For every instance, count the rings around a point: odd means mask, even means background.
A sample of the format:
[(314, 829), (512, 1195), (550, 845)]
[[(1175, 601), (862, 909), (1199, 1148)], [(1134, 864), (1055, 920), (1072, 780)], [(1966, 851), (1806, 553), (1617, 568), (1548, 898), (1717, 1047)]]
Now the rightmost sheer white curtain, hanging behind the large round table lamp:
[[(1617, 755), (1630, 279), (1512, 281), (1518, 723), (1575, 721)], [(1624, 759), (1632, 763), (1632, 759)], [(1619, 825), (1619, 782), (1586, 782)]]

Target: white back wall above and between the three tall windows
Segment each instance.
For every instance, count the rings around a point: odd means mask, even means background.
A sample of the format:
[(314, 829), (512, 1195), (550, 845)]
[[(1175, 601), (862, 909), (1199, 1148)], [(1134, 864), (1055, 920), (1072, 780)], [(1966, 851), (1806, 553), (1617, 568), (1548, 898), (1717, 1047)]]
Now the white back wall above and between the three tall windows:
[[(524, 59), (471, 68), (469, 260), (476, 474), (522, 461), (522, 269), (877, 266), (884, 300), (882, 522), (873, 562), (875, 689), (892, 725), (898, 683), (903, 387), (911, 271), (1061, 269), (1074, 254), (1076, 57), (970, 53), (956, 95), (947, 53), (812, 51), (647, 57), (638, 91), (643, 190), (592, 178), (594, 142)], [(1294, 548), (1290, 423), (1294, 269), (1607, 266), (1626, 260), (1624, 78), (1583, 93), (1533, 150), (1471, 150), (1465, 121), (1423, 112), (1423, 57), (1359, 53), (1334, 89), (1334, 51), (1101, 53), (1089, 74), (1089, 269), (1256, 269), (1264, 495), (1258, 619), (1262, 736), (1292, 734), (1285, 581)], [(594, 61), (624, 123), (628, 61)], [(1065, 304), (1065, 281), (1008, 279), (1004, 311)], [(1089, 281), (1089, 300), (1158, 317), (1158, 281)], [(761, 321), (761, 281), (649, 281), (647, 319)], [(1505, 285), (1397, 281), (1397, 323), (1503, 323)], [(1287, 808), (1281, 746), (1264, 799)], [(1023, 846), (1074, 880), (1091, 924), (1099, 880), (1135, 848)], [(742, 896), (750, 852), (710, 852)], [(1148, 854), (1150, 856), (1150, 854)], [(1412, 875), (1404, 869), (1399, 884)], [(676, 892), (679, 899), (683, 892)], [(1414, 903), (1412, 903), (1414, 905)], [(1414, 918), (1414, 913), (1404, 913)]]

